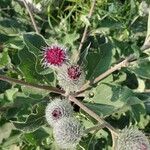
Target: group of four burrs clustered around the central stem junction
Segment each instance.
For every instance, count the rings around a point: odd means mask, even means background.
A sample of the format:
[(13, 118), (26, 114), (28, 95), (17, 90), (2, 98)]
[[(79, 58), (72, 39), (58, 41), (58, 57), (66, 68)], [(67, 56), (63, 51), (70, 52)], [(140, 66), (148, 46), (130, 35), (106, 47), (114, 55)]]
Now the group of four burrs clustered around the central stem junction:
[[(55, 69), (61, 88), (69, 93), (80, 89), (85, 80), (84, 72), (79, 65), (69, 64), (66, 49), (52, 45), (44, 48), (43, 56), (44, 65)], [(71, 104), (57, 98), (47, 105), (45, 117), (53, 127), (58, 146), (63, 149), (75, 148), (83, 135), (83, 126), (73, 117)]]

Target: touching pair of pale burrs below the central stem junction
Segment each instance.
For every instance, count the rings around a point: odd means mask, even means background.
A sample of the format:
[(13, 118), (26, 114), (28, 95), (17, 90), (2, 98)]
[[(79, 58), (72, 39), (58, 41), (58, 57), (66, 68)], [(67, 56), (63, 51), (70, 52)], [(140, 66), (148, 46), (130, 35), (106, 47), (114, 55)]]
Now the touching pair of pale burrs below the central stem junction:
[(83, 126), (73, 116), (73, 107), (66, 99), (55, 99), (45, 110), (47, 122), (53, 127), (57, 145), (63, 149), (73, 149), (83, 135)]

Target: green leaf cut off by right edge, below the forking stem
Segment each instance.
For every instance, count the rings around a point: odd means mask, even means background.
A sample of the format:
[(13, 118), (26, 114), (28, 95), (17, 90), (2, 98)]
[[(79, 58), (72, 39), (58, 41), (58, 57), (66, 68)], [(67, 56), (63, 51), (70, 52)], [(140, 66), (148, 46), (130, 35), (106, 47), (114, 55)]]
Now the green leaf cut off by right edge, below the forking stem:
[(134, 65), (129, 67), (129, 70), (139, 77), (150, 79), (150, 57), (136, 61)]

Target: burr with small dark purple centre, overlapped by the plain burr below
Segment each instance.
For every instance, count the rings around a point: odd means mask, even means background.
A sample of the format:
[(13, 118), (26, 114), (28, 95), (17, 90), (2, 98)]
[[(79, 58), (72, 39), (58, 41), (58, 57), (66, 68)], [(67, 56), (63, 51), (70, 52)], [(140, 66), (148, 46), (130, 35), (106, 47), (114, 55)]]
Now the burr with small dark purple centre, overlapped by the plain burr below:
[(55, 123), (63, 118), (73, 115), (73, 107), (67, 100), (55, 99), (49, 103), (45, 110), (47, 122), (53, 127)]

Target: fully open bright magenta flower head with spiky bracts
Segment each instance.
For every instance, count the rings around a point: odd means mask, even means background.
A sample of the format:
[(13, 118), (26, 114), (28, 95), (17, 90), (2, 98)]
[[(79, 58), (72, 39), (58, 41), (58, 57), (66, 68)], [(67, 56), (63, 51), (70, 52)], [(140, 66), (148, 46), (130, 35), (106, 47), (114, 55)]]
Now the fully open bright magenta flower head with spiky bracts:
[(44, 65), (49, 67), (60, 67), (67, 59), (66, 49), (52, 45), (44, 48)]

